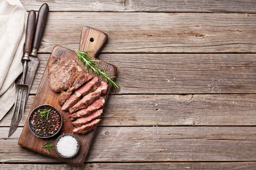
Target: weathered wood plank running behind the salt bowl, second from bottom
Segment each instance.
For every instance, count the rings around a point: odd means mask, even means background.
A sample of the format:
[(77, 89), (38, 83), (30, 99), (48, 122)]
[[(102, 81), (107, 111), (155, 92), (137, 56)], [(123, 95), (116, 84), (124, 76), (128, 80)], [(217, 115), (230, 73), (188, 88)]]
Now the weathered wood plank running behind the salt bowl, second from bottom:
[[(1, 162), (57, 162), (21, 148), (21, 130), (18, 127), (7, 138), (9, 128), (0, 127)], [(98, 127), (85, 161), (256, 161), (255, 131), (256, 127)]]

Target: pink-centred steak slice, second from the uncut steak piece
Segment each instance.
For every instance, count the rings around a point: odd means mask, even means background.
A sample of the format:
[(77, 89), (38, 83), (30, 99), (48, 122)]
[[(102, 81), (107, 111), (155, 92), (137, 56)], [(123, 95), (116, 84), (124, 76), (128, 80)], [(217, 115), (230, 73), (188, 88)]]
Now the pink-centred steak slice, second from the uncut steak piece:
[(72, 108), (69, 109), (70, 113), (75, 112), (76, 110), (80, 110), (89, 106), (92, 102), (96, 101), (101, 97), (101, 93), (106, 93), (108, 89), (108, 85), (106, 82), (101, 82), (101, 85), (94, 91), (91, 92), (77, 102)]

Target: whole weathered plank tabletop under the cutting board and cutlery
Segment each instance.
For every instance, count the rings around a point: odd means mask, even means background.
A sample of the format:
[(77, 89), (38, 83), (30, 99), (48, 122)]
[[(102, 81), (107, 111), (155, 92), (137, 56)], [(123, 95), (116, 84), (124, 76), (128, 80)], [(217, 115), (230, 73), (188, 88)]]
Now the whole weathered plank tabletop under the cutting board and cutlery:
[[(45, 0), (21, 0), (27, 11)], [(256, 169), (255, 0), (54, 0), (26, 112), (0, 169)], [(83, 167), (18, 145), (55, 45), (78, 49), (82, 26), (109, 35), (99, 58), (118, 67)]]

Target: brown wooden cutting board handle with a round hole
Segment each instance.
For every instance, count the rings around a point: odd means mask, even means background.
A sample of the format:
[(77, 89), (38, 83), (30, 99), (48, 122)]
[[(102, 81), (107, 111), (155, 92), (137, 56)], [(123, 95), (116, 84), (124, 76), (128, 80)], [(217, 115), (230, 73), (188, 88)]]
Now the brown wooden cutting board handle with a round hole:
[(98, 52), (104, 46), (108, 39), (108, 35), (100, 30), (91, 28), (89, 26), (82, 27), (82, 33), (80, 38), (79, 50), (90, 51), (90, 59), (96, 59)]

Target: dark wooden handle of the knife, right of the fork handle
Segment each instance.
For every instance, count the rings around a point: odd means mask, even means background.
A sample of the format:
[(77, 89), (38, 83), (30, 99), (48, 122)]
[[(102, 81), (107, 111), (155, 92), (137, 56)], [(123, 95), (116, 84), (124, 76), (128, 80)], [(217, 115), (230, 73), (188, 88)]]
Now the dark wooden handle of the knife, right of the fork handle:
[[(39, 47), (39, 43), (41, 41), (43, 32), (44, 32), (44, 28), (45, 28), (45, 24), (46, 24), (46, 18), (49, 12), (49, 6), (44, 3), (37, 14), (37, 24), (36, 24), (36, 31), (35, 31), (35, 35), (34, 35), (34, 42), (33, 42), (33, 49), (37, 49)], [(33, 55), (33, 54), (31, 54)]]

